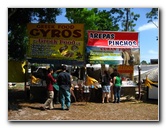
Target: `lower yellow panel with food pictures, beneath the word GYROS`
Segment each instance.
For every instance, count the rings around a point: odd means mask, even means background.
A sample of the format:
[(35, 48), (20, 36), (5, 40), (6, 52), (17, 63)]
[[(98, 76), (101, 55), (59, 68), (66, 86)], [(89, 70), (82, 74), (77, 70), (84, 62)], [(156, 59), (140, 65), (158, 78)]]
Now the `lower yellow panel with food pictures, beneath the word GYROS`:
[(84, 42), (76, 40), (56, 40), (50, 38), (30, 38), (28, 57), (57, 60), (84, 59)]

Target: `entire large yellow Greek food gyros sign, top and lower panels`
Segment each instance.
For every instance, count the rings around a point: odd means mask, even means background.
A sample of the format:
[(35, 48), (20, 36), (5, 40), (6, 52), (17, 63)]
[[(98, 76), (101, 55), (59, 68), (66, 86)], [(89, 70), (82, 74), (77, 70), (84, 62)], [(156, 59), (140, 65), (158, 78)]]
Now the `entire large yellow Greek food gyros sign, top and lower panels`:
[(83, 24), (28, 24), (27, 56), (57, 60), (84, 60)]

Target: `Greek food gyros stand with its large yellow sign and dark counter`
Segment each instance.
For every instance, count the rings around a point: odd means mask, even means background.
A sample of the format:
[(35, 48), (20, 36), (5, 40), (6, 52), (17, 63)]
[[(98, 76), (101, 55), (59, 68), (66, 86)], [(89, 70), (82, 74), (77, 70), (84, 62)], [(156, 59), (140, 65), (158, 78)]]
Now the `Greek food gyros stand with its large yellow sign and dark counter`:
[[(29, 23), (27, 30), (29, 63), (49, 64), (54, 68), (62, 64), (85, 65), (84, 24)], [(33, 72), (31, 75), (34, 75)], [(30, 83), (32, 99), (45, 98), (45, 79), (40, 79), (41, 83)]]

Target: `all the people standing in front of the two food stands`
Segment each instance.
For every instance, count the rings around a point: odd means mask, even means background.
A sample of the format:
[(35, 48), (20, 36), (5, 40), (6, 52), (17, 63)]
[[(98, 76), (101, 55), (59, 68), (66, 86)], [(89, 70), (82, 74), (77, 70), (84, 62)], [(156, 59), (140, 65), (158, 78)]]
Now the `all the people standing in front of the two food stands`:
[[(47, 100), (41, 108), (43, 110), (47, 108), (54, 109), (55, 101), (56, 104), (61, 104), (62, 110), (69, 110), (71, 106), (71, 96), (73, 96), (76, 101), (72, 80), (72, 75), (67, 71), (65, 65), (63, 65), (60, 70), (56, 71), (53, 68), (49, 68), (46, 76)], [(112, 93), (114, 94), (113, 103), (120, 102), (122, 79), (117, 72), (117, 69), (114, 69), (112, 74), (109, 74), (107, 70), (104, 70), (100, 84), (102, 86), (102, 103), (110, 102), (111, 91), (113, 91)], [(83, 98), (87, 103), (90, 98), (91, 87), (89, 85), (82, 85), (82, 90)]]

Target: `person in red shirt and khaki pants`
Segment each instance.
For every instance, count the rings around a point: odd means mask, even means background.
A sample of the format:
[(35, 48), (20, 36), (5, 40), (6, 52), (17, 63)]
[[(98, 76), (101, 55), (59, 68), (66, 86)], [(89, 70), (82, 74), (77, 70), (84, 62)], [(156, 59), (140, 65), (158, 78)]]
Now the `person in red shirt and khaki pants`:
[(56, 79), (53, 78), (52, 74), (53, 74), (53, 69), (49, 68), (48, 74), (47, 74), (47, 79), (46, 79), (48, 97), (47, 97), (47, 100), (45, 101), (44, 105), (42, 106), (42, 109), (44, 109), (44, 110), (46, 109), (46, 107), (49, 107), (49, 109), (54, 108), (54, 103), (53, 103), (54, 87), (53, 87), (53, 84), (56, 82)]

